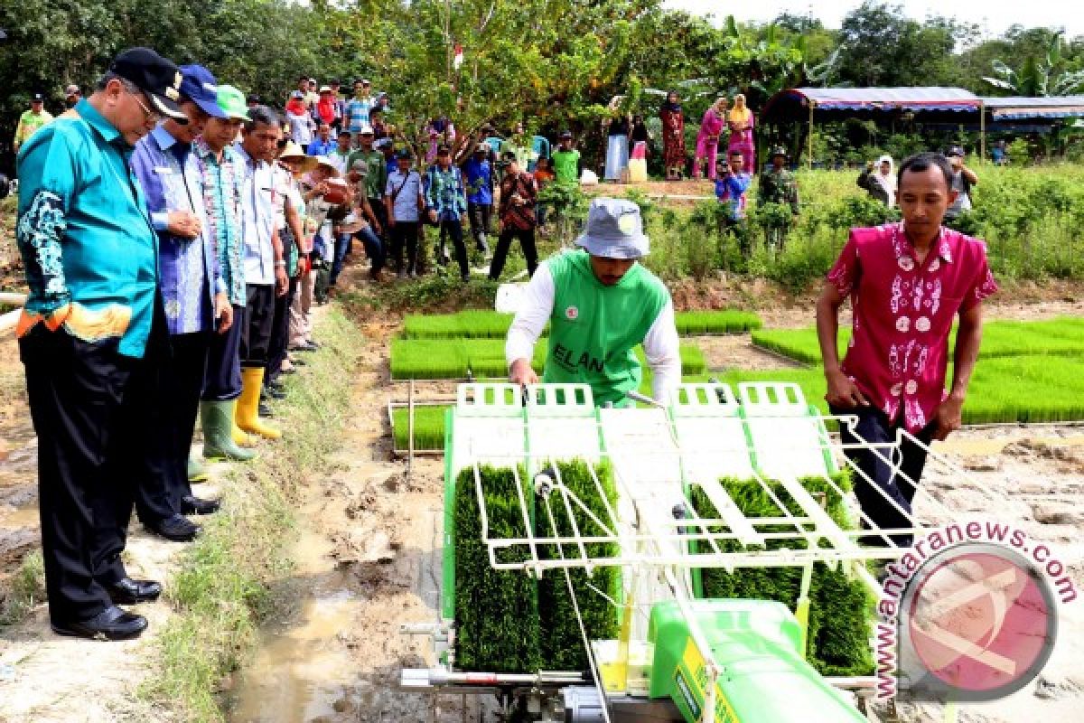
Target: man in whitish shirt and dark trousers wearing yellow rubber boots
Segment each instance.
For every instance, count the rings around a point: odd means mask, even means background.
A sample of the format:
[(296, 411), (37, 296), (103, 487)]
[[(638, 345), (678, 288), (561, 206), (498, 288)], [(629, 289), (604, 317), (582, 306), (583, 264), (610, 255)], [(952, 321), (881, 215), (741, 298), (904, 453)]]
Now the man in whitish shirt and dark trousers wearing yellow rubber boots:
[(271, 166), (279, 153), (282, 125), (278, 114), (266, 105), (249, 111), (248, 117), (243, 139), (234, 146), (243, 162), (241, 229), (247, 285), (236, 422), (244, 431), (279, 439), (282, 432), (260, 421), (259, 403), (274, 327), (275, 297), (289, 291), (286, 257), (276, 230), (275, 179)]

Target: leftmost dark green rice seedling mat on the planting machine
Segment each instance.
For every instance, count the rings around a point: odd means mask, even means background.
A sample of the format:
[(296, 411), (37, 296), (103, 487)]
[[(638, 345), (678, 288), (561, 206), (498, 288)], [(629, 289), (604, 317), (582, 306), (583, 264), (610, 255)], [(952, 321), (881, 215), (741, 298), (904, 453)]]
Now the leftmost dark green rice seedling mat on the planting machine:
[[(482, 466), (479, 477), (488, 534), (525, 538), (522, 512), (512, 469)], [(524, 490), (527, 499), (532, 491)], [(530, 673), (540, 669), (540, 624), (535, 579), (521, 571), (494, 570), (482, 542), (475, 469), (455, 482), (455, 659), (462, 670)], [(502, 560), (522, 552), (502, 551)]]

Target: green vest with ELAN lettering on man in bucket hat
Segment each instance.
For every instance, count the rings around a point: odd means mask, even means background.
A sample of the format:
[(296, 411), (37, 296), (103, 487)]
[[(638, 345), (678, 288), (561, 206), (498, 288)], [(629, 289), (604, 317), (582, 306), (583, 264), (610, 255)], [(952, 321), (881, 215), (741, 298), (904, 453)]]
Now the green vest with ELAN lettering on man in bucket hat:
[(589, 384), (595, 404), (621, 402), (640, 387), (643, 371), (633, 349), (666, 306), (666, 286), (640, 263), (616, 286), (605, 286), (582, 249), (546, 263), (555, 294), (542, 380)]

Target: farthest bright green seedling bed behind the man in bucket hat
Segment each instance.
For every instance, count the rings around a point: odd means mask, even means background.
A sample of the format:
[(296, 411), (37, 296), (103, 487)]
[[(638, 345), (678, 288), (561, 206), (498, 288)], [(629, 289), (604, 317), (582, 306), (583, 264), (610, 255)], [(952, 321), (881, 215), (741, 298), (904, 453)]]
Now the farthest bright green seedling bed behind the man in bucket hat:
[[(498, 311), (460, 311), (453, 314), (408, 314), (403, 319), (404, 339), (503, 339), (512, 324), (512, 314)], [(678, 333), (741, 334), (761, 327), (760, 317), (751, 311), (679, 311)]]

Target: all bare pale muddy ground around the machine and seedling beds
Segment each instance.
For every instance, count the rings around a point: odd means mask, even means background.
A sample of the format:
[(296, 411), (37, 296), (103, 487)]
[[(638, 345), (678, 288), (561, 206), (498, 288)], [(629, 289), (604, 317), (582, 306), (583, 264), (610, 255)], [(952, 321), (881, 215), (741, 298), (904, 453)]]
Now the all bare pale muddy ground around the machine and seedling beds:
[[(995, 307), (991, 318), (1082, 313), (1074, 300), (1042, 307)], [(764, 313), (771, 326), (809, 324), (805, 310)], [(404, 622), (437, 619), (442, 521), (439, 460), (392, 460), (387, 402), (404, 385), (388, 374), (395, 324), (363, 324), (366, 347), (349, 393), (353, 413), (335, 454), (335, 472), (302, 492), (296, 566), (273, 591), (281, 612), (266, 627), (243, 674), (225, 681), (233, 723), (493, 720), (477, 700), (436, 700), (396, 689), (403, 666), (424, 666), (427, 640), (399, 634)], [(753, 349), (748, 335), (699, 339), (712, 369), (789, 364)], [(980, 362), (981, 363), (981, 362)], [(11, 574), (37, 544), (35, 446), (22, 400), (14, 345), (0, 345), (0, 569)], [(447, 396), (446, 384), (417, 386)], [(1070, 425), (965, 430), (939, 449), (994, 494), (997, 517), (1051, 543), (1077, 586), (1084, 585), (1084, 428)], [(931, 495), (962, 512), (985, 505), (931, 469)], [(206, 488), (199, 490), (204, 492)], [(210, 494), (212, 490), (207, 490)], [(138, 526), (134, 526), (138, 528)], [(178, 547), (136, 530), (130, 569), (169, 579)], [(143, 606), (152, 633), (102, 645), (49, 634), (43, 606), (0, 631), (0, 721), (169, 721), (136, 695), (156, 655), (154, 630), (170, 615)], [(962, 709), (960, 720), (989, 723), (1076, 722), (1084, 705), (1084, 614), (1062, 609), (1057, 648), (1035, 684), (994, 705)], [(486, 706), (489, 708), (489, 706)], [(430, 715), (433, 718), (430, 719)], [(904, 720), (942, 721), (940, 710), (906, 709)]]

